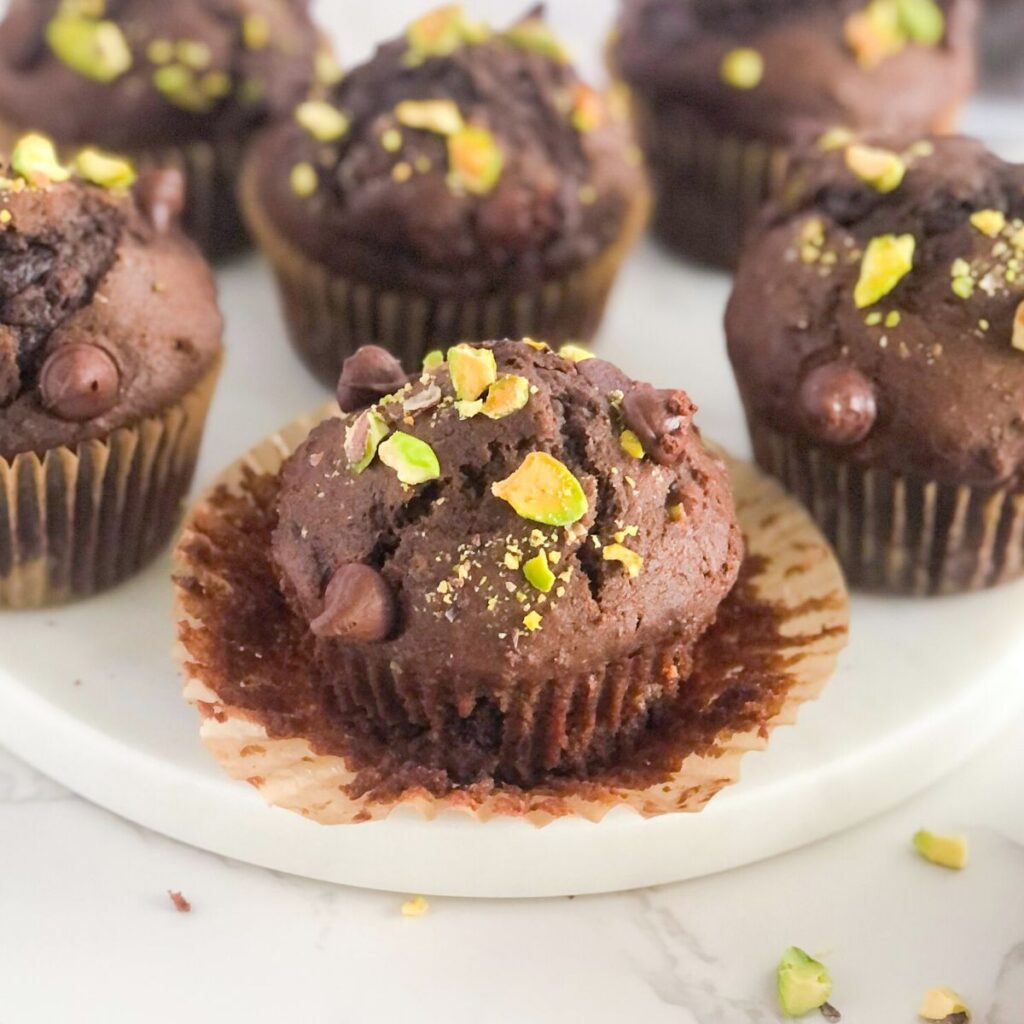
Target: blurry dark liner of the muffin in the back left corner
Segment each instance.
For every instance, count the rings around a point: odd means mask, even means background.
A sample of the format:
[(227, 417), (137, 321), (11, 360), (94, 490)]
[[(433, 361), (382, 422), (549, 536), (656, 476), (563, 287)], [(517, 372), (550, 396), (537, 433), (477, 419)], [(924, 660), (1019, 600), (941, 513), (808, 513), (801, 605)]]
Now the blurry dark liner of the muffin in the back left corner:
[[(10, 152), (29, 130), (0, 122), (0, 152)], [(170, 168), (181, 172), (186, 196), (181, 226), (210, 259), (231, 256), (250, 244), (236, 199), (246, 141), (224, 136), (214, 142), (182, 142), (125, 154), (140, 171)], [(58, 146), (60, 159), (70, 162), (80, 148)]]

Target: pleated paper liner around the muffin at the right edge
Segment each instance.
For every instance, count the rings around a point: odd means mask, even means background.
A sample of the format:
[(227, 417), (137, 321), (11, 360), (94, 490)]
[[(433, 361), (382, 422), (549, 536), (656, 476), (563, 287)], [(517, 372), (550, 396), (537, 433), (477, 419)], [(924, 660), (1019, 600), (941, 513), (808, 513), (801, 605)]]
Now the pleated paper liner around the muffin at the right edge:
[(804, 503), (851, 586), (913, 596), (1024, 574), (1024, 490), (969, 487), (854, 465), (763, 427), (758, 463)]

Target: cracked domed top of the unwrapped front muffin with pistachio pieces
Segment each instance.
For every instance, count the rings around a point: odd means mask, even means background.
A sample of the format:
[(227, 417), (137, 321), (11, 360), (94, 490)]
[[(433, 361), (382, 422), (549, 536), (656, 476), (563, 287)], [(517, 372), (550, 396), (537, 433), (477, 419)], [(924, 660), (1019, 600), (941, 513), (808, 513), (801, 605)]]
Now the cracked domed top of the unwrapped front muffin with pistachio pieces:
[(428, 366), (407, 381), (361, 349), (350, 412), (283, 471), (273, 558), (315, 635), (394, 671), (521, 679), (707, 629), (742, 543), (684, 392), (536, 342)]

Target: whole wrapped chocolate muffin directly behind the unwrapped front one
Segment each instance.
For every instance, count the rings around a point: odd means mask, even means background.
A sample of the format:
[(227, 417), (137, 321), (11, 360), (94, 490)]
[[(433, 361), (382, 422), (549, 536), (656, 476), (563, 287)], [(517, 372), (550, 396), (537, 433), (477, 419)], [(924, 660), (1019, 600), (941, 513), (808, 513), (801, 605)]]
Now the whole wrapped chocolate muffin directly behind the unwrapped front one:
[(292, 340), (333, 385), (379, 343), (586, 339), (646, 213), (622, 112), (540, 14), (424, 15), (255, 145), (243, 182)]

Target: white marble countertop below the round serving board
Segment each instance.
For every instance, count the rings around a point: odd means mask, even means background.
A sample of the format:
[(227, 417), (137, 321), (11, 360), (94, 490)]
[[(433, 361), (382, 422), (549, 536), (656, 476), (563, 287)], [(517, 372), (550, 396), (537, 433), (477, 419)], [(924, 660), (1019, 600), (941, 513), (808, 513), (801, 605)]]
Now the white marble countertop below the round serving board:
[[(1024, 719), (911, 803), (784, 857), (612, 896), (435, 898), (414, 919), (402, 895), (163, 839), (0, 752), (0, 1024), (767, 1024), (791, 944), (825, 959), (847, 1024), (911, 1024), (935, 985), (977, 1022), (1024, 1024), (1022, 778)], [(918, 858), (921, 826), (967, 831), (969, 867)]]

